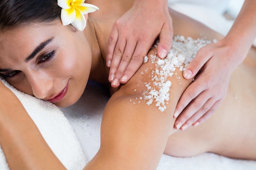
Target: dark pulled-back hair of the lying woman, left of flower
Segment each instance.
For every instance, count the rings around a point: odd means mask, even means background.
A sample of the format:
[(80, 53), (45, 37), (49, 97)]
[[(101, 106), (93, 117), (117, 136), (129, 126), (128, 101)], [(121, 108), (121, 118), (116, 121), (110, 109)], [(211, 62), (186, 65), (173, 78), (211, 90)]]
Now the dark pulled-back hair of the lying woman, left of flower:
[(0, 0), (0, 30), (60, 18), (57, 0)]

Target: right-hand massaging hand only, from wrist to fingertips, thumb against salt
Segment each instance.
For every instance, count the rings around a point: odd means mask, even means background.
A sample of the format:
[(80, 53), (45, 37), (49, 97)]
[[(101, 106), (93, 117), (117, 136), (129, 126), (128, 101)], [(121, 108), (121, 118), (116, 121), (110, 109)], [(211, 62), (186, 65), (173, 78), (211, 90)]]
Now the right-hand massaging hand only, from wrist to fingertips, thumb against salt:
[(176, 106), (176, 129), (185, 130), (191, 124), (202, 124), (214, 113), (226, 96), (231, 73), (246, 54), (226, 40), (207, 44), (198, 51), (183, 73), (185, 78), (198, 75), (184, 91)]

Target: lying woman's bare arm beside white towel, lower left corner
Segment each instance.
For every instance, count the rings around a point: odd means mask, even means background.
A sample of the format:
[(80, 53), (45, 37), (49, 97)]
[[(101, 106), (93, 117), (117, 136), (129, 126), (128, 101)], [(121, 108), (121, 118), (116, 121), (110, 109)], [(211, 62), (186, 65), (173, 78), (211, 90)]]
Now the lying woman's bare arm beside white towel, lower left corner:
[(0, 82), (0, 145), (11, 170), (65, 169), (18, 98)]

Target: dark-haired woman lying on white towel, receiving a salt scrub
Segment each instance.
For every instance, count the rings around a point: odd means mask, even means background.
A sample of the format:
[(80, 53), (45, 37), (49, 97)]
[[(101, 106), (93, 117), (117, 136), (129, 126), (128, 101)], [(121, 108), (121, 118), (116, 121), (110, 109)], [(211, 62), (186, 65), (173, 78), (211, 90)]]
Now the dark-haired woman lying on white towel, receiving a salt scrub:
[[(56, 1), (16, 0), (19, 6), (11, 5), (13, 2), (6, 0), (0, 4), (0, 73), (10, 84), (60, 107), (74, 104), (88, 79), (110, 86), (105, 62), (108, 35), (115, 20), (132, 6), (131, 1), (117, 0), (110, 4), (93, 0), (101, 10), (85, 15), (84, 31), (77, 31), (71, 25), (63, 26), (61, 8)], [(4, 6), (8, 5), (6, 10)], [(169, 12), (175, 34), (209, 40), (221, 38), (202, 24)], [(49, 14), (50, 18), (43, 14)], [(148, 56), (154, 54), (154, 50)], [(144, 95), (145, 82), (153, 83), (150, 70), (156, 65), (149, 58), (110, 98), (103, 114), (101, 147), (84, 169), (154, 170), (163, 152), (182, 157), (214, 152), (227, 157), (256, 159), (253, 147), (256, 135), (249, 132), (256, 128), (253, 121), (256, 118), (255, 54), (252, 49), (232, 75), (227, 97), (216, 114), (206, 123), (184, 132), (173, 128), (175, 106), (192, 82), (192, 79), (182, 78), (182, 71), (175, 71), (180, 79), (173, 76), (166, 80), (172, 85), (170, 101), (163, 112), (154, 104), (130, 102)], [(10, 168), (65, 169), (16, 97), (2, 83), (0, 88), (0, 145)], [(238, 126), (240, 123), (242, 127)]]

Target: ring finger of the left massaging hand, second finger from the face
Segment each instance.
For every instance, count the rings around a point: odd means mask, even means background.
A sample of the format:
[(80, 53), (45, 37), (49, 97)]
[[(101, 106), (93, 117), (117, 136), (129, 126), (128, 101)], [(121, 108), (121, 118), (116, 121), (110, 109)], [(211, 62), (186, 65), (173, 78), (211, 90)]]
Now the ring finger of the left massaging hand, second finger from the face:
[(112, 82), (115, 78), (115, 74), (117, 73), (117, 69), (119, 67), (119, 64), (121, 62), (121, 58), (124, 53), (124, 49), (126, 46), (126, 40), (119, 38), (117, 41), (117, 45), (115, 47), (115, 52), (112, 58), (111, 67), (109, 71), (109, 77), (108, 80)]

